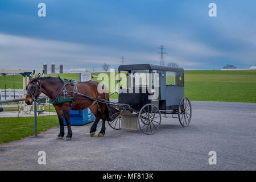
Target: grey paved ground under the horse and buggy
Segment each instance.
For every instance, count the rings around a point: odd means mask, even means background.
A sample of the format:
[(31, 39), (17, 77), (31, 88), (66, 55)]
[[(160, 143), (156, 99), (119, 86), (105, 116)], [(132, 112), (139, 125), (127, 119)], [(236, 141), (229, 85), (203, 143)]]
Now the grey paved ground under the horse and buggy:
[[(177, 119), (163, 118), (154, 135), (108, 126), (104, 138), (90, 138), (90, 123), (73, 126), (70, 142), (56, 140), (55, 128), (2, 144), (0, 170), (256, 169), (256, 104), (194, 101), (192, 107), (191, 125), (183, 128)], [(46, 165), (38, 164), (41, 150)], [(216, 165), (209, 165), (209, 151), (216, 151)]]

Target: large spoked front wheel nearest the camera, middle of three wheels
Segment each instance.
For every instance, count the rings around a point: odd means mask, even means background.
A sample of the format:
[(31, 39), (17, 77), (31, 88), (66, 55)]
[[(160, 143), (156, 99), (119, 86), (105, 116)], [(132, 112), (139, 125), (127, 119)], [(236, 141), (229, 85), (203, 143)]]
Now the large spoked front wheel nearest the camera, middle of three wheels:
[(161, 113), (154, 104), (146, 104), (139, 111), (139, 129), (145, 134), (154, 134), (160, 127)]

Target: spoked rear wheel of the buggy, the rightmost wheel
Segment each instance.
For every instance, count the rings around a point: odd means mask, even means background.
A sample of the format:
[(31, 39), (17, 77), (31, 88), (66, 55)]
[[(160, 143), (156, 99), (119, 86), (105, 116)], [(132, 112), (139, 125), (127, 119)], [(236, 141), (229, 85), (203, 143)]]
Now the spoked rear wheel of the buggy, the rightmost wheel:
[(180, 125), (186, 127), (189, 125), (192, 116), (191, 102), (188, 97), (183, 97), (179, 104), (178, 117)]

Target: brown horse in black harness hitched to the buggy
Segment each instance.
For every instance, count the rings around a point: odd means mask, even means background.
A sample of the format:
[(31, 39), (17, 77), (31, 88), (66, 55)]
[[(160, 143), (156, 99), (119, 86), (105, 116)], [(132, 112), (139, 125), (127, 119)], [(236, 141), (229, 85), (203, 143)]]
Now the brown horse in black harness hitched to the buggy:
[[(77, 90), (79, 93), (84, 94), (86, 96), (92, 98), (100, 98), (106, 101), (109, 101), (109, 92), (108, 88), (97, 81), (87, 81), (87, 82), (78, 82)], [(98, 92), (98, 86), (104, 90), (104, 93)], [(36, 101), (36, 98), (43, 92), (46, 94), (50, 100), (55, 100), (57, 97), (64, 96), (64, 90), (73, 91), (74, 86), (68, 80), (61, 80), (58, 77), (30, 77), (30, 81), (27, 85), (27, 95), (25, 102), (27, 105), (32, 105), (33, 101)], [(73, 97), (73, 93), (66, 92), (68, 96)], [(80, 98), (80, 99), (79, 99)], [(63, 102), (60, 104), (53, 104), (55, 107), (56, 113), (59, 117), (60, 123), (60, 133), (57, 136), (57, 139), (63, 139), (64, 137), (64, 124), (63, 124), (63, 116), (65, 117), (65, 121), (67, 122), (68, 134), (65, 140), (71, 140), (72, 138), (72, 130), (70, 126), (70, 118), (69, 118), (69, 109), (72, 110), (83, 110), (89, 108), (95, 116), (95, 121), (90, 127), (90, 137), (96, 132), (96, 127), (100, 119), (102, 119), (102, 127), (101, 131), (98, 134), (98, 137), (104, 137), (105, 135), (105, 121), (106, 117), (108, 117), (108, 107), (106, 104), (96, 102), (90, 99), (86, 99), (83, 96), (76, 94), (76, 99), (74, 102)]]

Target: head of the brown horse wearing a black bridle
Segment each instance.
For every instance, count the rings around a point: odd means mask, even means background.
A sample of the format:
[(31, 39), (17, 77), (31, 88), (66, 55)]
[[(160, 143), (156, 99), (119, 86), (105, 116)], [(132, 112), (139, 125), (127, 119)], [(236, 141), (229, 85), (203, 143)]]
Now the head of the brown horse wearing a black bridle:
[(39, 77), (32, 78), (29, 77), (30, 81), (27, 84), (27, 95), (25, 98), (25, 102), (27, 105), (32, 105), (33, 101), (38, 98), (38, 96), (41, 94), (41, 82)]

